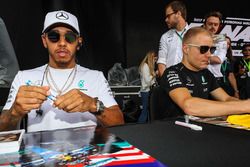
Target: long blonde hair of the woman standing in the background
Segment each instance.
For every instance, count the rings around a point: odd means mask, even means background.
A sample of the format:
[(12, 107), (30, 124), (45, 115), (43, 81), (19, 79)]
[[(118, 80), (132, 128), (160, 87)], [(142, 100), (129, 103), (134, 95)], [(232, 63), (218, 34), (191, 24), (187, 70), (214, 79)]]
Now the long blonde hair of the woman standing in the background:
[(139, 66), (139, 70), (141, 71), (141, 69), (143, 68), (143, 65), (145, 63), (148, 64), (149, 67), (149, 73), (152, 76), (155, 76), (155, 57), (157, 57), (157, 54), (155, 51), (149, 51), (147, 52), (146, 56), (144, 57), (144, 59), (142, 60), (140, 66)]

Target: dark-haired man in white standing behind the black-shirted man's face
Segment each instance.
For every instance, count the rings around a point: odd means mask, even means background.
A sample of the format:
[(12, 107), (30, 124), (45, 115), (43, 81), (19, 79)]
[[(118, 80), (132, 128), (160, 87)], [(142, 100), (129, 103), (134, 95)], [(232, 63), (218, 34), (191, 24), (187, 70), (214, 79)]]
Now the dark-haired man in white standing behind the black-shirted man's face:
[(224, 34), (218, 34), (221, 28), (222, 14), (219, 11), (212, 11), (205, 16), (204, 28), (213, 34), (216, 50), (211, 56), (208, 69), (214, 74), (217, 82), (223, 85), (223, 74), (221, 65), (226, 60), (227, 41)]

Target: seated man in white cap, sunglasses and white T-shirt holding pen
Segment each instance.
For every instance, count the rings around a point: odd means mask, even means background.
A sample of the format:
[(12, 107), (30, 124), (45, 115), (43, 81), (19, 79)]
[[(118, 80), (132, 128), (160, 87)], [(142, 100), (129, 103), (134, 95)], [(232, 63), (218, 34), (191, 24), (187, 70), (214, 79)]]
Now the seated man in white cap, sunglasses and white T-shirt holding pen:
[(123, 115), (100, 71), (76, 64), (82, 45), (77, 18), (49, 12), (42, 31), (49, 62), (19, 71), (0, 117), (0, 131), (18, 127), (27, 115), (27, 131), (123, 124)]

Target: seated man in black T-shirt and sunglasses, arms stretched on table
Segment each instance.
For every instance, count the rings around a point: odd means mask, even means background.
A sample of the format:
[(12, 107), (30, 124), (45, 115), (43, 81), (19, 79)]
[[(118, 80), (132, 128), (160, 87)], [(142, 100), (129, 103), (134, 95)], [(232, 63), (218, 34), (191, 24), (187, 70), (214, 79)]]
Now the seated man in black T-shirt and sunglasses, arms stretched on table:
[[(168, 97), (166, 116), (223, 116), (250, 113), (250, 100), (239, 101), (219, 87), (207, 69), (215, 51), (211, 33), (202, 27), (190, 28), (183, 38), (182, 62), (166, 69), (161, 87)], [(209, 96), (215, 100), (209, 100)]]

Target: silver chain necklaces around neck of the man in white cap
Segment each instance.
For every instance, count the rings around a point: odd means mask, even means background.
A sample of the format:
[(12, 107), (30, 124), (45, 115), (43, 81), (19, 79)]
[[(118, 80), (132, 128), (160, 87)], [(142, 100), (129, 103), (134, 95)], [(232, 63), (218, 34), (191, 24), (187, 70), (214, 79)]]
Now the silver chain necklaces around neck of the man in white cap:
[[(54, 80), (53, 77), (52, 77), (52, 74), (51, 74), (51, 72), (50, 72), (50, 68), (48, 67), (48, 68), (46, 69), (46, 81), (47, 81), (48, 85), (50, 86), (50, 88), (51, 88), (53, 91), (57, 92), (58, 95), (61, 95), (63, 92), (65, 92), (66, 90), (68, 90), (69, 87), (72, 85), (72, 83), (73, 83), (73, 81), (75, 80), (75, 77), (76, 77), (76, 72), (77, 72), (77, 65), (75, 65), (75, 67), (74, 67), (74, 68), (72, 69), (72, 71), (70, 72), (70, 74), (69, 74), (69, 76), (68, 76), (66, 82), (65, 82), (64, 85), (62, 86), (62, 88), (59, 89), (58, 86), (57, 86), (57, 84), (56, 84), (56, 82), (55, 82), (55, 80)], [(72, 74), (73, 74), (73, 77), (71, 77)], [(50, 80), (52, 81), (52, 83), (50, 83), (49, 77), (50, 77)], [(70, 78), (72, 78), (72, 79), (71, 79), (70, 82), (69, 82), (69, 79), (70, 79)], [(68, 86), (66, 87), (66, 85), (67, 85), (68, 82), (69, 82), (69, 84), (68, 84)], [(65, 87), (66, 87), (66, 88), (65, 88)]]

